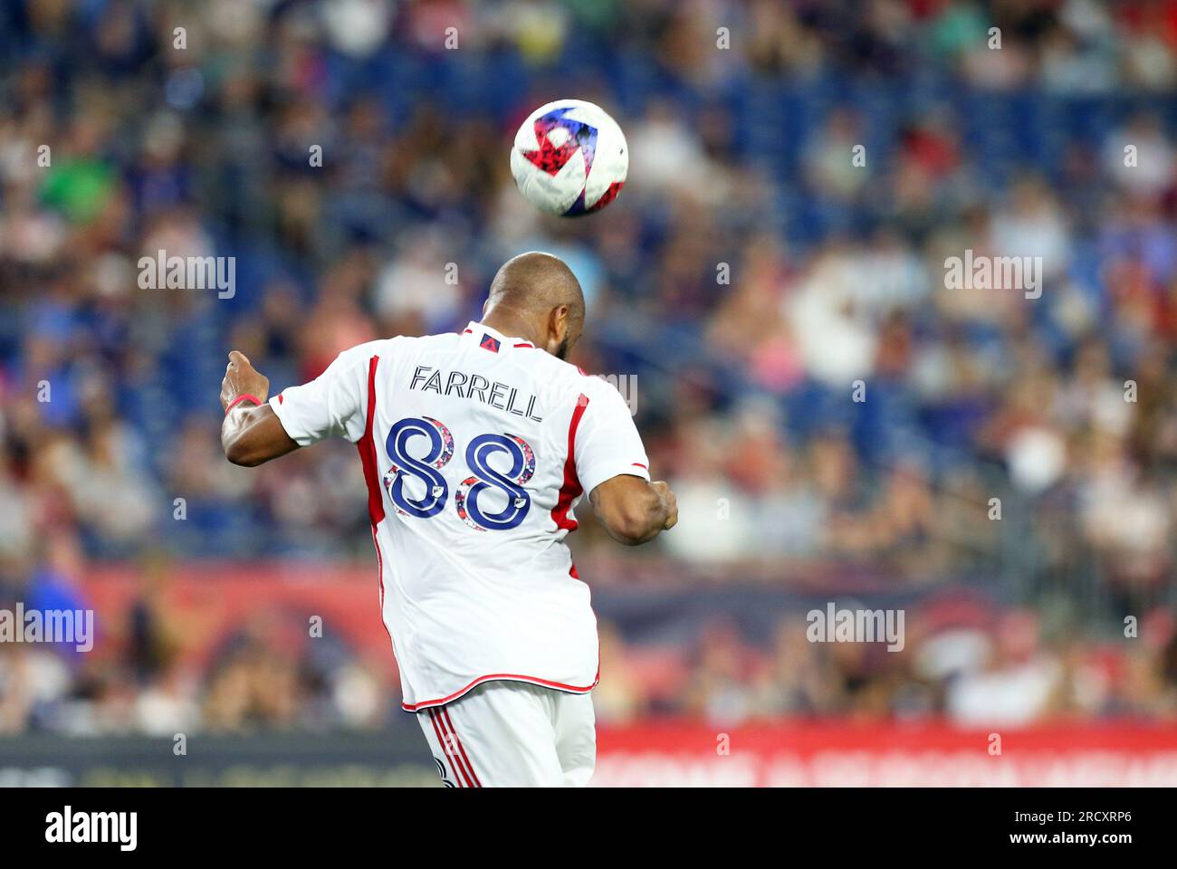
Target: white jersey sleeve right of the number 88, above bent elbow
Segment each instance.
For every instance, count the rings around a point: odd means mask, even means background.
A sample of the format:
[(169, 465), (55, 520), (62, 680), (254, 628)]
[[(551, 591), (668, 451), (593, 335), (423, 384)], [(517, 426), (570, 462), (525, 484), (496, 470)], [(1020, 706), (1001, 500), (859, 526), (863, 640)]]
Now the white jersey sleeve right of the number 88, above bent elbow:
[(586, 391), (588, 403), (574, 439), (577, 477), (585, 492), (621, 473), (650, 479), (650, 459), (629, 405), (617, 387), (598, 382)]

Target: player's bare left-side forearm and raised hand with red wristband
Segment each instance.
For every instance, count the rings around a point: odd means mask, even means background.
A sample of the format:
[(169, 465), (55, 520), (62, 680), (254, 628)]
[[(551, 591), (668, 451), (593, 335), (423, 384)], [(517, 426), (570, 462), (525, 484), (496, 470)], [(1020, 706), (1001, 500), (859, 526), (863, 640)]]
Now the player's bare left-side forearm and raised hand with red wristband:
[(270, 379), (254, 370), (244, 353), (234, 350), (228, 354), (221, 380), (221, 407), (227, 411), (221, 423), (221, 449), (234, 465), (254, 467), (299, 446), (266, 404), (268, 392)]

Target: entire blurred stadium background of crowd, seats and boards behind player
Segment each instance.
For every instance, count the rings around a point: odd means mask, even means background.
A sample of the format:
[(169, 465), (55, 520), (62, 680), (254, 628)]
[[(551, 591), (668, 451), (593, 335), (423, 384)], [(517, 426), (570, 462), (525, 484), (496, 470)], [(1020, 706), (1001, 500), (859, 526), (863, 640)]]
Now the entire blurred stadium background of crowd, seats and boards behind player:
[[(0, 644), (0, 783), (437, 784), (359, 462), (231, 466), (218, 386), (458, 329), (531, 248), (681, 511), (571, 540), (599, 783), (1177, 783), (1175, 82), (1164, 0), (0, 1), (0, 605), (98, 611)], [(506, 159), (566, 95), (632, 155), (576, 221)], [(234, 297), (140, 290), (159, 248)], [(965, 248), (1042, 298), (946, 288)], [(905, 649), (806, 642), (827, 602)]]

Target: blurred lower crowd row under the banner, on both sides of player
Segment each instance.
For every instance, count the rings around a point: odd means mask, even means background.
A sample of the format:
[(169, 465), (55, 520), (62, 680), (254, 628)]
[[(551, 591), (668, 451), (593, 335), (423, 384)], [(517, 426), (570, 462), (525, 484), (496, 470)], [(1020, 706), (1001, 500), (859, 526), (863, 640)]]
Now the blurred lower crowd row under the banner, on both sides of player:
[[(165, 613), (153, 596), (140, 597), (121, 642), (101, 655), (0, 644), (0, 736), (327, 732), (379, 729), (404, 715), (387, 656), (365, 659), (330, 633), (308, 639), (294, 621), (259, 608), (202, 659), (185, 654)], [(1051, 629), (1030, 609), (966, 601), (909, 615), (896, 651), (810, 642), (800, 611), (782, 613), (766, 644), (749, 642), (726, 617), (685, 643), (631, 642), (603, 621), (597, 719), (719, 728), (780, 718), (935, 718), (962, 728), (1177, 721), (1171, 612), (1118, 641)]]

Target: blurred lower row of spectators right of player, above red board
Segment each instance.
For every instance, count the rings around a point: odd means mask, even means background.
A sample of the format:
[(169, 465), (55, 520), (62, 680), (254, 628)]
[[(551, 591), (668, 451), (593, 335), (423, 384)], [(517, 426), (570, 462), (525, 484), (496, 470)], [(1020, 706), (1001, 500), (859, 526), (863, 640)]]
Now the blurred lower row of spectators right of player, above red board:
[(892, 652), (885, 643), (811, 643), (804, 616), (794, 613), (780, 619), (767, 649), (719, 622), (684, 658), (626, 646), (606, 628), (609, 679), (594, 691), (594, 705), (605, 723), (676, 715), (717, 727), (780, 717), (935, 716), (976, 728), (1177, 719), (1171, 616), (1155, 616), (1149, 639), (1137, 643), (1044, 636), (1040, 622), (1030, 610), (982, 621), (925, 612), (907, 624), (903, 649)]

